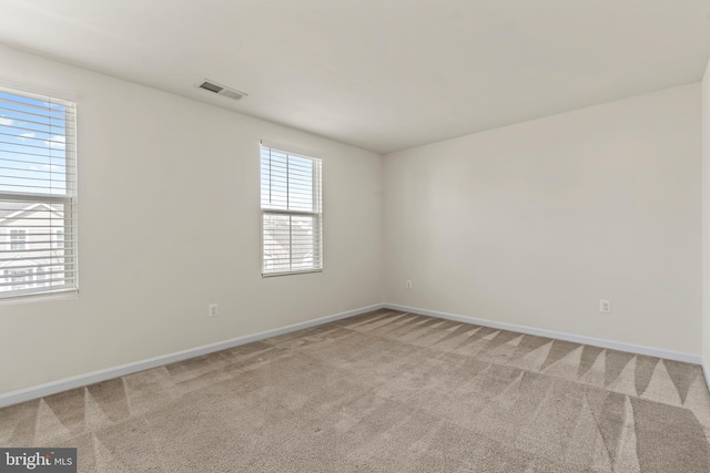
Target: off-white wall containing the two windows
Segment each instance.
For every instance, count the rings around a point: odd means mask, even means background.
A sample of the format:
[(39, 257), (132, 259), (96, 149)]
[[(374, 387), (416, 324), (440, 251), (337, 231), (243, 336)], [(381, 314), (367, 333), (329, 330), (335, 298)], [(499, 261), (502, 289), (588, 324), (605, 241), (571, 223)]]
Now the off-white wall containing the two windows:
[[(383, 301), (382, 156), (4, 47), (0, 76), (78, 94), (80, 179), (80, 296), (0, 304), (0, 393)], [(324, 158), (322, 274), (261, 277), (260, 138)]]

